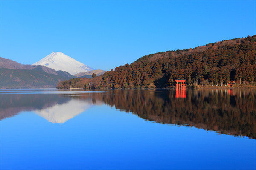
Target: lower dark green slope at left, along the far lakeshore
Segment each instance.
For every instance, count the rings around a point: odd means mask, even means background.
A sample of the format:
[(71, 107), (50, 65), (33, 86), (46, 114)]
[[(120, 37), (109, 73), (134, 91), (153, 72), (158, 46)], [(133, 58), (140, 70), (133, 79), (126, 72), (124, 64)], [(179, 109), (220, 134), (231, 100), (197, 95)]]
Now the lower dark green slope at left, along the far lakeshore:
[(54, 88), (59, 81), (67, 78), (38, 69), (6, 69), (0, 68), (0, 88)]

